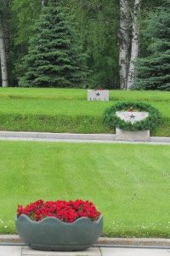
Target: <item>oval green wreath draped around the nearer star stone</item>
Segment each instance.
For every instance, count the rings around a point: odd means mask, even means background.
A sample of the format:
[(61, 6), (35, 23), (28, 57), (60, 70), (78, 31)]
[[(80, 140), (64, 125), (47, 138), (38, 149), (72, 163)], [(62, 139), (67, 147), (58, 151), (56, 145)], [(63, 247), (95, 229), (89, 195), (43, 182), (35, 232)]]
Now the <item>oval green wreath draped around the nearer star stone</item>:
[[(132, 124), (116, 115), (116, 111), (129, 111), (130, 108), (133, 108), (134, 111), (148, 112), (149, 116)], [(153, 130), (161, 124), (161, 113), (156, 108), (142, 102), (118, 102), (111, 108), (105, 109), (103, 119), (111, 129), (116, 127), (126, 131), (144, 131)]]

